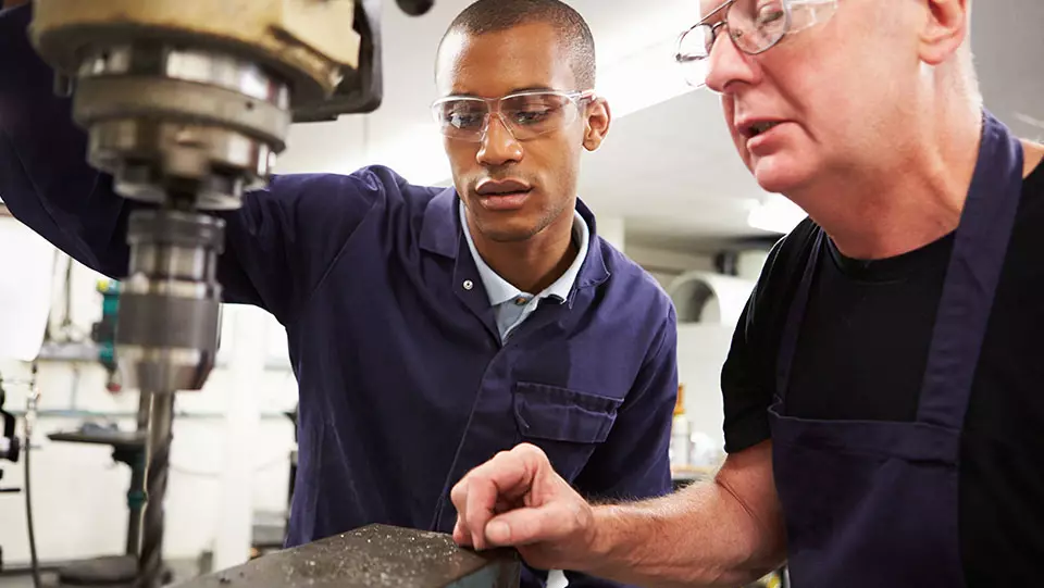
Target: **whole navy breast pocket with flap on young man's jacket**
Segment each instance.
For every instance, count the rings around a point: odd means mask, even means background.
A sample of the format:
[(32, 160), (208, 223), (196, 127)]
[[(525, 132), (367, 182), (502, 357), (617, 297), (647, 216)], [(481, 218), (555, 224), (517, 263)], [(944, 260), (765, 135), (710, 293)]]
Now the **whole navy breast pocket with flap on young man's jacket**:
[(519, 435), (547, 453), (555, 470), (572, 480), (609, 436), (622, 400), (568, 388), (520, 381), (514, 387)]

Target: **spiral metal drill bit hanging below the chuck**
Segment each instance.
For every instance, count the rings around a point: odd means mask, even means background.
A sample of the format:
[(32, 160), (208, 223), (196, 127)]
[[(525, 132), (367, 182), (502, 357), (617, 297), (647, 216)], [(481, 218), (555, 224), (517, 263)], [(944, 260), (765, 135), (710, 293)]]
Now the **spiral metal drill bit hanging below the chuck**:
[(159, 588), (163, 576), (163, 499), (171, 463), (174, 395), (146, 393), (151, 410), (146, 441), (146, 504), (137, 588)]

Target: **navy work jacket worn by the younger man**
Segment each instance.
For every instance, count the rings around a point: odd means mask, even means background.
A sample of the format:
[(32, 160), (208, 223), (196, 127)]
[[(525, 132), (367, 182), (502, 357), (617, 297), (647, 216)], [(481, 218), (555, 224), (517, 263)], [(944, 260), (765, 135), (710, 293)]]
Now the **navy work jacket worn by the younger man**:
[[(70, 101), (25, 39), (28, 16), (0, 16), (0, 198), (79, 262), (125, 276), (138, 204), (85, 163)], [(452, 485), (522, 441), (592, 498), (670, 490), (666, 293), (579, 204), (591, 247), (568, 300), (540, 303), (501, 345), (457, 202), (451, 188), (368, 167), (277, 176), (223, 213), (225, 299), (278, 318), (298, 380), (289, 545), (370, 523), (451, 531)]]

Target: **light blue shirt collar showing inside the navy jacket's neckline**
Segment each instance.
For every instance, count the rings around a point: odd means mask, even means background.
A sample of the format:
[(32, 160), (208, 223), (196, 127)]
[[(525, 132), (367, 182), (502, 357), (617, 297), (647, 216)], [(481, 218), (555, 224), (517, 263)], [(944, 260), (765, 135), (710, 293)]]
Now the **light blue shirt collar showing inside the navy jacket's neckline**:
[(511, 331), (518, 328), (543, 300), (551, 299), (559, 304), (563, 304), (569, 299), (569, 292), (576, 283), (576, 276), (580, 275), (580, 267), (587, 258), (587, 247), (591, 240), (591, 229), (587, 228), (587, 222), (584, 221), (580, 212), (573, 212), (573, 240), (577, 245), (576, 258), (566, 270), (566, 273), (544, 291), (534, 296), (515, 288), (486, 264), (482, 255), (478, 254), (478, 250), (475, 249), (471, 227), (468, 226), (464, 203), (461, 202), (458, 208), (460, 209), (460, 225), (463, 227), (464, 237), (468, 239), (468, 249), (471, 250), (471, 257), (475, 260), (478, 277), (482, 278), (486, 296), (489, 297), (489, 304), (497, 313), (497, 330), (500, 331), (501, 341), (507, 341)]

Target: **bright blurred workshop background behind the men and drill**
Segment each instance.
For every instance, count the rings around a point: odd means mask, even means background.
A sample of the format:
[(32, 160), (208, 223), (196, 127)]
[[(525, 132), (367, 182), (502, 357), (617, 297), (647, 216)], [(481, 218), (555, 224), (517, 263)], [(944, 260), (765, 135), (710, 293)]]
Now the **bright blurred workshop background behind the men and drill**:
[[(469, 2), (440, 0), (424, 18), (384, 10), (385, 98), (370, 115), (296, 127), (277, 172), (348, 173), (389, 165), (417, 184), (449, 184), (442, 139), (430, 123), (433, 55)], [(671, 54), (695, 0), (573, 0), (599, 50), (598, 91), (616, 121), (585, 160), (581, 197), (598, 230), (646, 267), (679, 310), (684, 402), (672, 447), (680, 483), (721, 458), (718, 372), (765, 254), (803, 213), (762, 192), (728, 139), (718, 99), (693, 91)], [(386, 4), (391, 4), (390, 2)], [(977, 2), (972, 37), (986, 105), (1024, 137), (1044, 137), (1044, 2)], [(408, 41), (405, 41), (409, 39)], [(109, 389), (96, 324), (103, 290), (94, 272), (0, 217), (0, 374), (5, 409), (21, 414), (30, 360), (39, 355), (39, 418), (33, 437), (36, 540), (45, 566), (123, 552), (129, 468), (111, 448), (58, 442), (83, 426), (135, 426), (137, 393)], [(46, 325), (46, 328), (45, 328)], [(103, 333), (103, 329), (101, 329)], [(199, 393), (176, 400), (165, 558), (201, 570), (241, 563), (282, 539), (295, 449), (296, 384), (282, 327), (253, 308), (225, 306), (219, 366)], [(21, 464), (0, 462), (2, 488), (24, 488)], [(7, 571), (29, 561), (20, 495), (0, 493)], [(251, 551), (256, 550), (256, 551)], [(0, 575), (0, 586), (14, 581)], [(12, 584), (14, 586), (14, 584)]]

